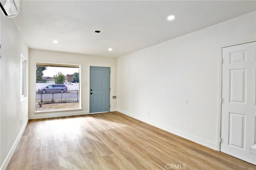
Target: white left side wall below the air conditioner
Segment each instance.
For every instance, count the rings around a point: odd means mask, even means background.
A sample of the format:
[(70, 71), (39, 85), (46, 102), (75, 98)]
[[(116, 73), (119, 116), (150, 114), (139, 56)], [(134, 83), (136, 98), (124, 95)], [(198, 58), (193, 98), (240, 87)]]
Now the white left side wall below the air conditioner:
[[(28, 97), (20, 100), (20, 53), (28, 60), (28, 47), (22, 41), (14, 19), (4, 18), (2, 12), (0, 13), (0, 169), (5, 169), (28, 121)], [(28, 66), (26, 68), (25, 75), (28, 80)]]

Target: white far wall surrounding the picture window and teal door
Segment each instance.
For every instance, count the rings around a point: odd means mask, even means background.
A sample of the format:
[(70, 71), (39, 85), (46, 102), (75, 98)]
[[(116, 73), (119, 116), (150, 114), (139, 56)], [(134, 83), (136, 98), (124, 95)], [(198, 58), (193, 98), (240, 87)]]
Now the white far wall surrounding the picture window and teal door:
[[(82, 54), (62, 53), (54, 51), (29, 50), (29, 119), (45, 117), (59, 117), (68, 115), (82, 115), (89, 113), (89, 88), (90, 88), (90, 66), (110, 67), (110, 111), (116, 111), (116, 58), (96, 57)], [(36, 108), (36, 62), (80, 64), (80, 95), (82, 109), (74, 111), (52, 111), (45, 113), (35, 113)]]

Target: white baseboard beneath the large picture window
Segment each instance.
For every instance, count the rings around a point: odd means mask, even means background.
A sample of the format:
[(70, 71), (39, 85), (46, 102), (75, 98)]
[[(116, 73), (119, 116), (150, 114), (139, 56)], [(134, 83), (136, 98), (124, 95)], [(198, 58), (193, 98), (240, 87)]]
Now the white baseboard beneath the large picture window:
[(38, 112), (34, 113), (34, 115), (29, 115), (28, 119), (44, 119), (44, 118), (53, 118), (53, 117), (65, 117), (65, 116), (77, 116), (77, 115), (86, 115), (89, 114), (89, 111), (63, 111), (63, 112)]

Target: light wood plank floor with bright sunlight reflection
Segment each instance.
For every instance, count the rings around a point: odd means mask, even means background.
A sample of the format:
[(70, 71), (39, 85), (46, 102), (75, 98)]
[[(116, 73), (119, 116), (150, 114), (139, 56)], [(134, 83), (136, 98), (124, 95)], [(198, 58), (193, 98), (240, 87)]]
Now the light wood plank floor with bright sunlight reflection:
[(239, 169), (256, 166), (119, 112), (30, 120), (7, 167)]

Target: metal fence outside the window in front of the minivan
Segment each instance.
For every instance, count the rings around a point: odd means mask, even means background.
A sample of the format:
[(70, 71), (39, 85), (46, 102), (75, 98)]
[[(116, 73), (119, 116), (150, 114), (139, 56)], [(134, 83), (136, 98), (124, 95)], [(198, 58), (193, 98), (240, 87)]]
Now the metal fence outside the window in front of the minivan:
[(79, 90), (67, 91), (36, 91), (36, 102), (41, 104), (46, 103), (66, 103), (66, 102), (79, 102)]

